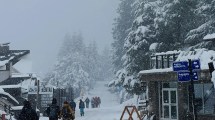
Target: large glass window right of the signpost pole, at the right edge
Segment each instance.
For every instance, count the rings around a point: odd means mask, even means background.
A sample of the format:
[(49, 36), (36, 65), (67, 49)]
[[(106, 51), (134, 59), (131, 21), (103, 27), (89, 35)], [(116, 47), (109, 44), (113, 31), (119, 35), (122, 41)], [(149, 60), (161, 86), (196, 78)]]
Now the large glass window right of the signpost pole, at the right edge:
[(215, 114), (215, 91), (213, 84), (195, 84), (194, 90), (197, 113)]

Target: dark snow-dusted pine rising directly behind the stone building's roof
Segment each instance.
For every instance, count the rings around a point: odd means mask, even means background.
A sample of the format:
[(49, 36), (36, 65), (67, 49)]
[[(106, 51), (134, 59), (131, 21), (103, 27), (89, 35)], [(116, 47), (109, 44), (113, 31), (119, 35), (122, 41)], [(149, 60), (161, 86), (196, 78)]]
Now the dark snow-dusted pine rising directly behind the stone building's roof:
[(161, 0), (155, 20), (158, 51), (181, 49), (196, 20), (196, 0)]

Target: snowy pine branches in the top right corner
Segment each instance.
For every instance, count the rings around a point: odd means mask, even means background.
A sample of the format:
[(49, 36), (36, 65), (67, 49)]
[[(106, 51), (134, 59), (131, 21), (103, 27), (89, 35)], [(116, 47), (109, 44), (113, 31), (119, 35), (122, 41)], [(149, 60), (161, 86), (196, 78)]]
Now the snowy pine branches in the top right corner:
[(214, 47), (211, 41), (202, 40), (207, 34), (215, 33), (215, 0), (198, 0), (195, 13), (198, 19), (194, 24), (197, 26), (189, 31), (185, 43), (189, 45), (189, 50), (195, 48), (211, 49)]

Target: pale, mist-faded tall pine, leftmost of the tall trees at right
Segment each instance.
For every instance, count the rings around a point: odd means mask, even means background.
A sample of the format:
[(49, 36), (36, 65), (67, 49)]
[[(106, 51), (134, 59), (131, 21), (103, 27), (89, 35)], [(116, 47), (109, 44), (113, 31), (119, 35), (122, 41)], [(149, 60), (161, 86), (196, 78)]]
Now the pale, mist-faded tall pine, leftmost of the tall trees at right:
[(130, 32), (132, 22), (134, 20), (134, 1), (135, 0), (120, 0), (119, 7), (117, 9), (118, 17), (115, 18), (113, 27), (113, 65), (114, 71), (118, 71), (122, 68), (122, 56), (125, 54), (124, 43), (125, 38)]

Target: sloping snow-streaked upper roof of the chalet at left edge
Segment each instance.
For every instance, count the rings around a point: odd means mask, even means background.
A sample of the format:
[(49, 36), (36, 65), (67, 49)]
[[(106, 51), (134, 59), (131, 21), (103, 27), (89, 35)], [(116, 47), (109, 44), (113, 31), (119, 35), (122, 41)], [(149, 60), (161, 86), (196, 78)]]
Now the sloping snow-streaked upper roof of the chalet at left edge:
[(9, 50), (4, 54), (0, 54), (0, 67), (11, 62), (12, 65), (16, 64), (21, 57), (30, 53), (30, 50)]

